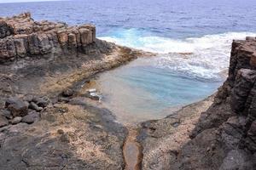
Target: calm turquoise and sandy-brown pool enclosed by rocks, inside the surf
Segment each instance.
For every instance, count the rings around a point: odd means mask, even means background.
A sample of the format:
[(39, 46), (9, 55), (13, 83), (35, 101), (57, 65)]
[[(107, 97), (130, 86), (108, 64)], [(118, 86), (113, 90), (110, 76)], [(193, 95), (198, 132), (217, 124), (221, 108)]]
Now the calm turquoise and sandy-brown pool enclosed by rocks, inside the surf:
[[(183, 58), (189, 55), (176, 54)], [(102, 105), (119, 122), (130, 124), (163, 118), (183, 105), (205, 99), (224, 80), (218, 74), (209, 77), (175, 71), (163, 66), (162, 59), (162, 56), (136, 59), (96, 79)]]

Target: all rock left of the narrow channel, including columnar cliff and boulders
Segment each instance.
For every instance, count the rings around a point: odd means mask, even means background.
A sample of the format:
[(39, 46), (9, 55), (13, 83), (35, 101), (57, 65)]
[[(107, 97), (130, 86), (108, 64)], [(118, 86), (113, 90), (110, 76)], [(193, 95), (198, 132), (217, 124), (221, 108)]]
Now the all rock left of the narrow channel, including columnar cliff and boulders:
[(123, 169), (126, 127), (76, 89), (148, 53), (98, 40), (91, 25), (0, 21), (0, 169)]

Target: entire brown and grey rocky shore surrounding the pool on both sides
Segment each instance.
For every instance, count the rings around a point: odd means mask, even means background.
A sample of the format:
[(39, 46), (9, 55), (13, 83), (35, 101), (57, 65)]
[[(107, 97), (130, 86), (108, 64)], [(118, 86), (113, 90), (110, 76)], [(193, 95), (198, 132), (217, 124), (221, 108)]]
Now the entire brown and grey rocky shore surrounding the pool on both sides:
[(84, 87), (154, 54), (98, 40), (91, 25), (0, 18), (0, 169), (132, 169), (132, 144), (134, 169), (253, 169), (255, 47), (255, 37), (233, 42), (217, 94), (129, 129)]

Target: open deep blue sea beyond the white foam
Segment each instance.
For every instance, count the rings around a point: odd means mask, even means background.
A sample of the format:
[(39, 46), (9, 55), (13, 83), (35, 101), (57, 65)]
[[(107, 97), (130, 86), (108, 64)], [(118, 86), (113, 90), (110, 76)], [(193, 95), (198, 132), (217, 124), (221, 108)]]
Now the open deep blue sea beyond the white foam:
[(229, 31), (255, 31), (255, 0), (70, 0), (1, 3), (0, 15), (31, 11), (36, 20), (93, 23), (98, 36), (136, 28), (160, 37), (201, 37)]

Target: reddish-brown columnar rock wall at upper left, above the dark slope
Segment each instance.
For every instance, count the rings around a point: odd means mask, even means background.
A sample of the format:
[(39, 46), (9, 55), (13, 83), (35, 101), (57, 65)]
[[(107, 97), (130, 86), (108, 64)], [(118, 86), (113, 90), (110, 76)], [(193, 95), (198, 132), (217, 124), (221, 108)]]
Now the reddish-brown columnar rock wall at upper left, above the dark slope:
[(96, 42), (96, 27), (34, 21), (30, 13), (0, 18), (0, 64), (60, 54), (86, 54)]

